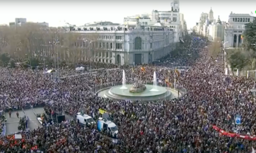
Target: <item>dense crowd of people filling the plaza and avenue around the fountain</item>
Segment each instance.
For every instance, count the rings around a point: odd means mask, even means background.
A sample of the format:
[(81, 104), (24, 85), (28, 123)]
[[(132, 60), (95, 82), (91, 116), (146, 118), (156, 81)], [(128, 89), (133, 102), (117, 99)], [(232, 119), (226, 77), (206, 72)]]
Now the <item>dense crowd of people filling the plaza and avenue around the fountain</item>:
[[(156, 65), (118, 66), (99, 63), (97, 74), (84, 74), (53, 82), (42, 71), (1, 68), (0, 105), (20, 108), (46, 103), (52, 110), (74, 114), (81, 108), (97, 116), (106, 110), (118, 126), (118, 142), (113, 142), (95, 127), (65, 121), (43, 128), (23, 131), (22, 139), (12, 135), (0, 138), (0, 151), (30, 152), (250, 152), (254, 141), (220, 135), (213, 125), (229, 132), (255, 135), (255, 104), (250, 89), (253, 80), (225, 76), (221, 56), (208, 56), (207, 41), (192, 39), (181, 54), (161, 59)], [(175, 73), (175, 67), (189, 67)], [(114, 86), (139, 78), (152, 83), (156, 71), (159, 85), (168, 78), (187, 92), (182, 97), (158, 101), (126, 101), (98, 97), (95, 88)], [(79, 72), (61, 68), (60, 76)], [(176, 76), (175, 76), (176, 75)], [(228, 80), (228, 81), (227, 81)], [(234, 116), (242, 116), (241, 125)]]

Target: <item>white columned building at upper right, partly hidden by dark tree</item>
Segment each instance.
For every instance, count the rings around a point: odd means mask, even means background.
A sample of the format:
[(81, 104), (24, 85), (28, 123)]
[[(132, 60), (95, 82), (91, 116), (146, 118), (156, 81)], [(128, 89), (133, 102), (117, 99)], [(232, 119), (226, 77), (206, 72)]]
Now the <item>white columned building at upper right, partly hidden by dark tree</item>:
[(245, 24), (253, 22), (253, 16), (249, 14), (229, 15), (229, 22), (225, 26), (225, 48), (239, 48), (243, 43), (242, 33), (245, 31)]

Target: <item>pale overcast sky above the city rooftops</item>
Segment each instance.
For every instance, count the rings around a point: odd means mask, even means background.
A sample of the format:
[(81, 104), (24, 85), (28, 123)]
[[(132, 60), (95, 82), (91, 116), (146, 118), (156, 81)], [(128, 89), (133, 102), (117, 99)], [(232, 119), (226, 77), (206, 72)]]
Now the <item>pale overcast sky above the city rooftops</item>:
[[(171, 1), (0, 0), (0, 24), (14, 22), (15, 18), (27, 18), (28, 22), (48, 22), (52, 27), (63, 25), (64, 21), (76, 25), (97, 21), (123, 23), (126, 16), (151, 14), (152, 10), (169, 11)], [(242, 14), (253, 11), (255, 14), (256, 1), (180, 0), (180, 12), (184, 14), (188, 28), (196, 24), (202, 12), (209, 13), (210, 7), (215, 19), (220, 15), (222, 21), (228, 22), (231, 11)]]

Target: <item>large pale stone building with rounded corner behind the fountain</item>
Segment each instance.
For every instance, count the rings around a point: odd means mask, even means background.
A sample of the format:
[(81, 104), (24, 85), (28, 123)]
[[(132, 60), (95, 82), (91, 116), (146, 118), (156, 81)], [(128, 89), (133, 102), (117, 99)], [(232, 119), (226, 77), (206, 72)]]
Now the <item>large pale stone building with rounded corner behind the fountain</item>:
[[(143, 26), (137, 20), (135, 25), (87, 25), (74, 27), (69, 32), (82, 35), (78, 46), (96, 38), (90, 44), (88, 60), (120, 65), (147, 64), (166, 56), (174, 49), (174, 32), (163, 26)], [(81, 45), (79, 45), (81, 44)], [(84, 44), (84, 45), (83, 45)]]

